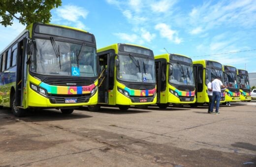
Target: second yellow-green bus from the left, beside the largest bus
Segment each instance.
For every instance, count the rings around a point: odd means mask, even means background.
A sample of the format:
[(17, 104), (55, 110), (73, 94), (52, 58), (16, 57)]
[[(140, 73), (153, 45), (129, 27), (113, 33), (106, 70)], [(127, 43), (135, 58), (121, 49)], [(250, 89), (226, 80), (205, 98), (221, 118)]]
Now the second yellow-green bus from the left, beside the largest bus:
[(156, 75), (153, 51), (132, 44), (113, 44), (97, 50), (99, 58), (98, 104), (88, 106), (98, 111), (100, 106), (155, 104)]

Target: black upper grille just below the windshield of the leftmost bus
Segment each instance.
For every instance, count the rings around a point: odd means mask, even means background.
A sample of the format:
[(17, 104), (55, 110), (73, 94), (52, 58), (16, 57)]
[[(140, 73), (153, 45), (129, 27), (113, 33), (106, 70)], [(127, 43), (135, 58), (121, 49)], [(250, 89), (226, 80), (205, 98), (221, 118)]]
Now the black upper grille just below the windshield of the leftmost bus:
[(70, 86), (87, 86), (87, 85), (93, 84), (91, 80), (61, 79), (61, 78), (47, 78), (43, 82), (50, 85), (58, 85), (58, 86), (69, 86), (69, 85)]

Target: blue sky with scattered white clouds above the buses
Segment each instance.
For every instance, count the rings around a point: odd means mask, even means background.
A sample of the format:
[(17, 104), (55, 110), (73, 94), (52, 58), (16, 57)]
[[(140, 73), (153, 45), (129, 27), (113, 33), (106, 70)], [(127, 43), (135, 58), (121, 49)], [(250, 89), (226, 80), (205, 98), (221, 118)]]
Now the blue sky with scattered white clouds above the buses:
[[(132, 43), (155, 55), (166, 48), (256, 72), (256, 0), (63, 0), (51, 13), (53, 24), (95, 34), (97, 48)], [(0, 26), (0, 50), (24, 28), (17, 20)]]

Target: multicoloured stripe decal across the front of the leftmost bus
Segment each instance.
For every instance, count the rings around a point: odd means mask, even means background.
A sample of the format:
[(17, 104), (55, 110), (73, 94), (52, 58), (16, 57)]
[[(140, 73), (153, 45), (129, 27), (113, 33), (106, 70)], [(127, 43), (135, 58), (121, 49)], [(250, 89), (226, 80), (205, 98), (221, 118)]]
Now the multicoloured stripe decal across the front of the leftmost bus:
[(50, 94), (87, 94), (95, 88), (95, 84), (89, 86), (54, 86), (47, 83), (40, 83), (40, 87), (47, 90)]

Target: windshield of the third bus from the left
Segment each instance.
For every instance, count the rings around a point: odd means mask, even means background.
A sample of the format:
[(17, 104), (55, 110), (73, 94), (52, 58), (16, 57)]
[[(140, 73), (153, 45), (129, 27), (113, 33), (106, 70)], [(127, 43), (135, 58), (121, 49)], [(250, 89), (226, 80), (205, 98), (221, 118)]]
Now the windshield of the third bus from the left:
[(193, 67), (187, 63), (171, 63), (169, 65), (169, 82), (179, 85), (194, 86)]

